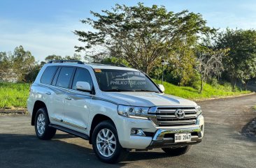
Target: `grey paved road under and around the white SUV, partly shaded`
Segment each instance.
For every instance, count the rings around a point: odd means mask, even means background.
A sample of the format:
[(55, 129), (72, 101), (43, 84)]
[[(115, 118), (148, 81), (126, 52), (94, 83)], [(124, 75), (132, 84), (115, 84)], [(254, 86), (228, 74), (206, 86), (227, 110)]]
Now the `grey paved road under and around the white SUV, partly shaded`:
[(256, 167), (256, 139), (245, 132), (256, 118), (256, 95), (198, 104), (206, 120), (201, 144), (178, 157), (134, 151), (118, 165), (99, 162), (88, 142), (63, 132), (38, 140), (29, 116), (0, 116), (0, 167)]

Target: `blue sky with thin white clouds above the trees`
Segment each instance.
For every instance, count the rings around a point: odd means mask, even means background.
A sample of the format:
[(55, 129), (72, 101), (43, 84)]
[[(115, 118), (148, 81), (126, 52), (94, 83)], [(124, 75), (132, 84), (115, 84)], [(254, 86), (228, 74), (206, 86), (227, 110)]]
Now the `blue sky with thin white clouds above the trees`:
[(92, 17), (90, 10), (100, 13), (111, 10), (115, 3), (134, 6), (138, 2), (165, 6), (173, 12), (201, 13), (207, 26), (214, 28), (256, 28), (255, 0), (0, 0), (0, 52), (13, 52), (22, 45), (36, 61), (50, 54), (73, 55), (74, 46), (83, 45), (73, 31), (92, 31), (80, 22)]

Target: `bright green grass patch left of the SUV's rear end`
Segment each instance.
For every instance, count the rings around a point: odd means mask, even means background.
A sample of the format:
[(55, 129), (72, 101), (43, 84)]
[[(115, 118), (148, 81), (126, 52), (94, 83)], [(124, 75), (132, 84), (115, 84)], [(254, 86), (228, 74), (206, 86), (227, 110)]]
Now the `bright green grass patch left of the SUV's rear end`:
[(0, 109), (27, 107), (30, 84), (0, 83)]

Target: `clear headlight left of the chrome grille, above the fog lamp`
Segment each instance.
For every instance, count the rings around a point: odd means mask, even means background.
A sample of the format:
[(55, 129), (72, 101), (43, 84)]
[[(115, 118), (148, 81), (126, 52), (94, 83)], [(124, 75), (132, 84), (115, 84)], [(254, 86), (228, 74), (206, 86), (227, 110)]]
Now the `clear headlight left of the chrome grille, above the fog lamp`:
[(148, 119), (148, 110), (148, 107), (118, 105), (119, 115), (136, 119)]

